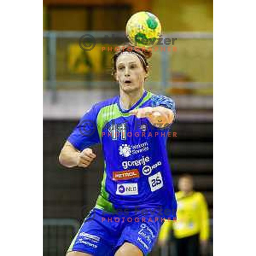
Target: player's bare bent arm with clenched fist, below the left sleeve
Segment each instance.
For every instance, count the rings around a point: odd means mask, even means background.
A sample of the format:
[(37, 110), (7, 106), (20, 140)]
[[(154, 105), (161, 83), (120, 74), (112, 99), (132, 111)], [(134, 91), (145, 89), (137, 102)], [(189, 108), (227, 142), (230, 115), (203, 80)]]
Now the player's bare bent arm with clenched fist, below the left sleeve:
[(91, 148), (85, 148), (83, 151), (79, 151), (67, 141), (61, 149), (59, 162), (68, 168), (74, 166), (86, 168), (90, 165), (95, 157), (96, 155), (93, 153)]

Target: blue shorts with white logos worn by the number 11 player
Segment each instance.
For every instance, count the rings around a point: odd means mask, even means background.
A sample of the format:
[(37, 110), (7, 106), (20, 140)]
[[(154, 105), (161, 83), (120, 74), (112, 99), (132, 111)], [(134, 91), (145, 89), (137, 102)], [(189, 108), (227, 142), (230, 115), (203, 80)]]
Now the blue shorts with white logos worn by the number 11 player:
[(105, 212), (94, 208), (85, 218), (68, 252), (79, 251), (93, 256), (113, 256), (125, 242), (148, 254), (156, 240), (163, 219), (144, 212)]

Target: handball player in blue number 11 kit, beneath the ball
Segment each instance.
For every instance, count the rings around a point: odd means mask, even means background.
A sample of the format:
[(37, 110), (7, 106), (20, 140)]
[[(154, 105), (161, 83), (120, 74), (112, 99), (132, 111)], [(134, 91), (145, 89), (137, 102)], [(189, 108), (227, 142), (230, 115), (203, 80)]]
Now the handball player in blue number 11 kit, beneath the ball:
[[(175, 103), (144, 89), (150, 56), (150, 52), (132, 45), (115, 53), (113, 76), (120, 95), (93, 105), (61, 150), (62, 165), (86, 168), (96, 158), (90, 147), (102, 143), (105, 160), (96, 206), (81, 225), (67, 256), (147, 255), (163, 224), (160, 216), (176, 218), (177, 202), (166, 151)], [(166, 126), (162, 128), (162, 124)], [(115, 132), (108, 136), (111, 127)], [(151, 134), (149, 139), (146, 134)], [(154, 211), (157, 218), (152, 221)], [(125, 221), (120, 221), (121, 217)]]

